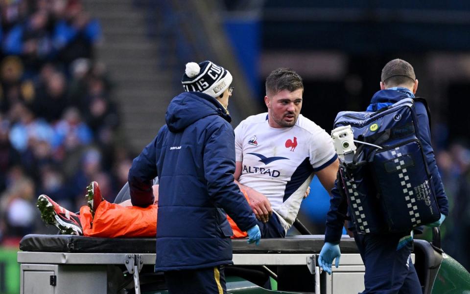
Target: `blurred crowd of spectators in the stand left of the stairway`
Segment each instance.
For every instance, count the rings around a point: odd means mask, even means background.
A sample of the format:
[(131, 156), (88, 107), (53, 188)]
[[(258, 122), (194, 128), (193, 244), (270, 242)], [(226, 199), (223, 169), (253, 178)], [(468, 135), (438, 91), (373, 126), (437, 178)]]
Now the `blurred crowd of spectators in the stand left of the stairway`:
[(80, 0), (6, 0), (0, 13), (0, 242), (17, 245), (44, 227), (37, 195), (75, 210), (92, 180), (116, 195), (132, 157)]

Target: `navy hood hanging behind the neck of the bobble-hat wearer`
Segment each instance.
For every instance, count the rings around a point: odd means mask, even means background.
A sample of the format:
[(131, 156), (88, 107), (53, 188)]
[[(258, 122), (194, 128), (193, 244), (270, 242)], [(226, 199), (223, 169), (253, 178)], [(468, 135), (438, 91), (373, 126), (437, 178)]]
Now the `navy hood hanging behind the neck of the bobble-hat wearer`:
[(209, 115), (219, 115), (229, 123), (232, 121), (215, 98), (200, 92), (183, 92), (171, 100), (166, 109), (165, 120), (170, 131), (180, 132)]

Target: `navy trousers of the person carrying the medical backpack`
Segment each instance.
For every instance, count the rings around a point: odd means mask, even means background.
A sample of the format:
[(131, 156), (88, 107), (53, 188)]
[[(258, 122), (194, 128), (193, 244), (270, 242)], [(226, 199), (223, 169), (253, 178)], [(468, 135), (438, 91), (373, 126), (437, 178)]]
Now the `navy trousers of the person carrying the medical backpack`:
[(422, 294), (411, 262), (412, 242), (397, 250), (404, 234), (354, 233), (366, 267), (362, 294)]

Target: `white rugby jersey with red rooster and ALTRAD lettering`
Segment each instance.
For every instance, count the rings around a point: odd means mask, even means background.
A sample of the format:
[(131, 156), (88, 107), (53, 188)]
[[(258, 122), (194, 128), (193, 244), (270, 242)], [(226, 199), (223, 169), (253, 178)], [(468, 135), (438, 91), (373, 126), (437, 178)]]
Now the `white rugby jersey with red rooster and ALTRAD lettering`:
[(329, 134), (299, 115), (293, 127), (269, 126), (268, 114), (248, 117), (235, 128), (238, 181), (266, 195), (285, 231), (292, 226), (315, 171), (336, 159)]

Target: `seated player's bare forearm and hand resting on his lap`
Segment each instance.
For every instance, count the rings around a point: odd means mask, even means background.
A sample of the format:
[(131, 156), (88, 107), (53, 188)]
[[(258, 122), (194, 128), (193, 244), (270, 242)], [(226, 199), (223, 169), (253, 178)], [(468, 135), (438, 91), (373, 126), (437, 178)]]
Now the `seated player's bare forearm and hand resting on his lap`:
[(271, 208), (271, 203), (268, 198), (263, 194), (259, 193), (257, 190), (247, 187), (240, 184), (238, 179), (241, 175), (242, 163), (240, 161), (235, 162), (235, 183), (238, 185), (240, 190), (245, 191), (248, 199), (250, 199), (250, 207), (255, 213), (256, 218), (262, 222), (267, 222), (269, 217), (273, 214), (273, 209)]

